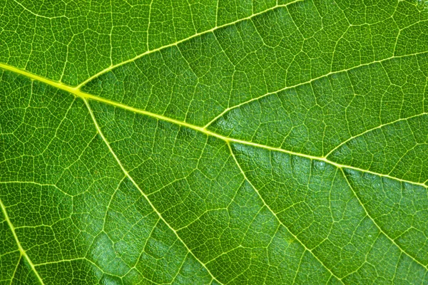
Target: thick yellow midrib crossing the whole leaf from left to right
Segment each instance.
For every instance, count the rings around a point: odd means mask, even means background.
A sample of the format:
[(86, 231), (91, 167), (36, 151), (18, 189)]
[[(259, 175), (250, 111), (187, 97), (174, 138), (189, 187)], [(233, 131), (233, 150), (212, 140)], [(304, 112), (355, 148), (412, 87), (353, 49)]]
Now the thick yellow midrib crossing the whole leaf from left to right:
[(147, 115), (147, 116), (149, 116), (151, 118), (156, 118), (158, 120), (163, 120), (165, 122), (173, 123), (175, 125), (180, 125), (180, 126), (183, 126), (185, 128), (190, 128), (192, 130), (196, 130), (196, 131), (198, 131), (200, 133), (203, 133), (205, 135), (210, 135), (210, 136), (213, 136), (215, 138), (219, 138), (220, 140), (224, 140), (225, 142), (236, 142), (236, 143), (240, 143), (240, 144), (243, 144), (243, 145), (250, 145), (250, 146), (253, 146), (253, 147), (264, 148), (266, 150), (272, 150), (272, 151), (277, 151), (277, 152), (285, 152), (285, 153), (287, 153), (289, 155), (296, 155), (296, 156), (299, 156), (299, 157), (308, 158), (310, 160), (318, 160), (318, 161), (326, 162), (326, 163), (329, 163), (330, 165), (334, 165), (335, 167), (338, 167), (340, 169), (347, 168), (347, 169), (351, 169), (351, 170), (357, 170), (357, 171), (360, 171), (360, 172), (370, 173), (372, 175), (378, 175), (378, 176), (381, 176), (381, 177), (387, 177), (387, 178), (390, 178), (392, 180), (398, 180), (400, 182), (406, 182), (406, 183), (409, 183), (409, 184), (412, 184), (412, 185), (419, 185), (419, 186), (428, 188), (427, 185), (424, 185), (423, 183), (420, 183), (420, 182), (414, 182), (414, 181), (410, 181), (410, 180), (403, 180), (403, 179), (400, 179), (398, 177), (393, 177), (393, 176), (385, 175), (385, 174), (378, 173), (378, 172), (372, 172), (370, 170), (365, 170), (365, 169), (362, 169), (362, 168), (353, 167), (351, 165), (342, 165), (340, 163), (333, 162), (331, 160), (327, 160), (326, 157), (317, 157), (317, 156), (314, 156), (314, 155), (306, 155), (304, 153), (293, 152), (293, 151), (290, 151), (290, 150), (284, 150), (284, 149), (278, 148), (278, 147), (270, 147), (268, 145), (261, 145), (261, 144), (255, 143), (255, 142), (248, 142), (247, 140), (238, 140), (238, 139), (235, 139), (235, 138), (228, 138), (228, 137), (226, 137), (224, 135), (220, 135), (218, 133), (214, 133), (214, 132), (212, 132), (210, 130), (207, 130), (206, 128), (199, 127), (198, 125), (193, 125), (193, 124), (185, 123), (185, 122), (180, 121), (180, 120), (175, 120), (173, 118), (165, 117), (164, 115), (158, 115), (156, 113), (151, 113), (151, 112), (148, 112), (146, 110), (141, 110), (141, 109), (138, 109), (138, 108), (133, 108), (131, 106), (128, 106), (128, 105), (125, 105), (125, 104), (122, 104), (122, 103), (118, 103), (118, 102), (113, 101), (113, 100), (108, 100), (106, 98), (101, 98), (101, 97), (98, 97), (96, 95), (85, 93), (85, 92), (81, 91), (80, 88), (78, 88), (78, 87), (71, 87), (71, 86), (68, 86), (66, 84), (63, 84), (63, 83), (60, 83), (60, 82), (57, 82), (57, 81), (52, 81), (52, 80), (50, 80), (48, 78), (44, 78), (43, 76), (38, 76), (36, 74), (29, 73), (28, 71), (24, 71), (24, 70), (22, 70), (20, 68), (14, 67), (14, 66), (9, 66), (9, 65), (7, 65), (5, 63), (0, 63), (0, 68), (4, 69), (6, 71), (11, 71), (11, 72), (20, 74), (22, 76), (26, 76), (27, 78), (31, 78), (32, 80), (35, 80), (35, 81), (46, 83), (49, 86), (53, 86), (55, 88), (64, 90), (64, 91), (66, 91), (68, 93), (71, 93), (71, 94), (75, 95), (76, 97), (84, 99), (84, 100), (95, 100), (95, 101), (98, 101), (98, 102), (101, 102), (101, 103), (106, 103), (108, 105), (113, 105), (114, 107), (117, 107), (117, 108), (121, 108), (121, 109), (124, 109), (124, 110), (131, 111), (131, 112), (134, 112), (134, 113), (139, 113), (139, 114), (142, 114), (142, 115)]

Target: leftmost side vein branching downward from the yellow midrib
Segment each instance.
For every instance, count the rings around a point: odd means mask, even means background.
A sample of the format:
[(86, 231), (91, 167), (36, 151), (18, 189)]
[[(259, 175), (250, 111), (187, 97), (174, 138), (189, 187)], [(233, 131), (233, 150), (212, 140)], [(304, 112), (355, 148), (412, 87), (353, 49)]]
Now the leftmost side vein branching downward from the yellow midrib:
[(177, 237), (178, 240), (180, 240), (180, 242), (184, 245), (184, 247), (188, 250), (188, 252), (190, 252), (190, 254), (193, 255), (193, 257), (195, 257), (196, 260), (198, 260), (198, 262), (205, 268), (206, 271), (208, 271), (208, 273), (210, 274), (210, 276), (217, 281), (219, 284), (222, 284), (220, 281), (218, 281), (217, 279), (215, 279), (215, 276), (213, 276), (213, 274), (211, 273), (211, 271), (205, 266), (205, 264), (200, 261), (200, 259), (198, 259), (198, 257), (195, 256), (195, 254), (193, 254), (193, 252), (190, 251), (190, 249), (188, 248), (187, 244), (185, 244), (185, 242), (183, 242), (183, 239), (180, 238), (180, 236), (178, 235), (178, 233), (175, 231), (175, 229), (173, 229), (173, 227), (170, 226), (170, 224), (168, 224), (168, 222), (166, 222), (166, 220), (163, 218), (163, 216), (161, 215), (160, 212), (158, 212), (158, 210), (156, 209), (156, 207), (152, 204), (151, 200), (148, 199), (146, 193), (143, 192), (143, 190), (141, 190), (141, 188), (138, 186), (138, 184), (135, 182), (135, 180), (133, 180), (133, 177), (131, 177), (131, 175), (129, 175), (128, 171), (125, 169), (125, 167), (123, 167), (123, 164), (121, 162), (121, 160), (119, 160), (119, 158), (117, 157), (116, 153), (113, 151), (113, 149), (110, 146), (110, 143), (108, 142), (108, 140), (106, 139), (106, 137), (104, 137), (103, 133), (101, 132), (101, 128), (98, 125), (98, 122), (95, 118), (95, 115), (93, 115), (91, 106), (88, 103), (88, 100), (86, 100), (86, 98), (83, 98), (83, 101), (85, 102), (86, 107), (88, 108), (88, 112), (91, 115), (91, 118), (93, 120), (93, 124), (95, 125), (95, 128), (98, 132), (98, 134), (100, 135), (101, 139), (103, 140), (103, 142), (106, 144), (106, 146), (108, 147), (108, 150), (111, 152), (111, 154), (113, 155), (114, 159), (116, 160), (116, 162), (118, 163), (119, 167), (121, 167), (121, 170), (123, 171), (123, 173), (126, 175), (126, 177), (128, 177), (129, 180), (131, 180), (131, 182), (133, 182), (133, 185), (136, 186), (136, 188), (138, 189), (139, 192), (141, 192), (141, 195), (143, 195), (143, 197), (146, 198), (148, 204), (151, 205), (151, 207), (153, 208), (153, 211), (156, 212), (156, 214), (158, 214), (159, 219), (162, 219), (162, 221), (171, 229), (171, 231), (174, 232), (175, 236)]

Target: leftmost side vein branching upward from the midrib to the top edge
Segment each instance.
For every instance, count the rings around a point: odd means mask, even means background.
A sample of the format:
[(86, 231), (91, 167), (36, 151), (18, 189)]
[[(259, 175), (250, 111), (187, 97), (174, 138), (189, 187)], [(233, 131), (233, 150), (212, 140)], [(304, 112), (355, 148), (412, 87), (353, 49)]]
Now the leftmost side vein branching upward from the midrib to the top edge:
[(98, 76), (101, 76), (102, 74), (107, 73), (108, 71), (111, 71), (112, 69), (114, 69), (114, 68), (116, 68), (116, 67), (118, 67), (118, 66), (123, 66), (123, 65), (124, 65), (124, 64), (126, 64), (126, 63), (130, 63), (130, 62), (136, 61), (136, 59), (141, 58), (141, 57), (143, 57), (143, 56), (146, 56), (146, 55), (148, 55), (148, 54), (150, 54), (150, 53), (155, 53), (156, 51), (161, 51), (161, 50), (163, 50), (164, 48), (169, 48), (169, 47), (171, 47), (171, 46), (177, 46), (179, 43), (183, 43), (183, 42), (185, 42), (185, 41), (189, 41), (190, 39), (192, 39), (192, 38), (196, 38), (196, 37), (198, 37), (198, 36), (202, 36), (202, 35), (204, 35), (205, 33), (212, 33), (213, 31), (218, 30), (219, 28), (224, 28), (224, 27), (226, 27), (226, 26), (232, 26), (232, 25), (238, 24), (238, 23), (240, 23), (240, 22), (242, 22), (242, 21), (245, 21), (245, 20), (251, 19), (251, 18), (253, 18), (253, 17), (255, 17), (255, 16), (258, 16), (258, 15), (260, 15), (260, 14), (264, 14), (264, 13), (266, 13), (267, 11), (271, 11), (271, 10), (274, 10), (274, 9), (277, 9), (277, 8), (280, 8), (280, 7), (286, 7), (286, 6), (290, 5), (290, 4), (293, 4), (293, 3), (296, 3), (296, 2), (300, 2), (300, 1), (303, 1), (303, 0), (295, 0), (295, 1), (292, 1), (292, 2), (287, 3), (287, 4), (279, 4), (279, 5), (275, 5), (275, 6), (271, 7), (271, 8), (269, 8), (269, 9), (265, 9), (265, 10), (263, 10), (263, 11), (260, 11), (260, 12), (258, 12), (258, 13), (252, 14), (252, 15), (250, 15), (250, 16), (248, 16), (248, 17), (243, 18), (243, 19), (239, 19), (239, 20), (236, 20), (236, 21), (230, 22), (230, 23), (228, 23), (228, 24), (220, 25), (220, 26), (215, 26), (214, 28), (210, 28), (209, 30), (202, 31), (202, 32), (200, 32), (200, 33), (195, 33), (195, 34), (193, 34), (193, 36), (189, 36), (188, 38), (183, 38), (183, 39), (181, 39), (180, 41), (175, 41), (175, 43), (169, 43), (168, 45), (161, 46), (161, 47), (159, 47), (159, 48), (153, 48), (153, 49), (151, 49), (151, 50), (148, 50), (148, 51), (146, 51), (146, 52), (144, 52), (144, 53), (139, 54), (138, 56), (135, 56), (135, 57), (133, 57), (133, 58), (130, 58), (130, 59), (126, 60), (126, 61), (122, 61), (121, 63), (117, 63), (117, 64), (114, 64), (114, 65), (112, 65), (112, 66), (109, 66), (109, 67), (108, 67), (108, 68), (106, 68), (106, 69), (103, 69), (102, 71), (100, 71), (100, 72), (98, 72), (98, 73), (94, 74), (93, 76), (91, 76), (90, 78), (86, 79), (86, 81), (83, 81), (82, 83), (80, 83), (78, 86), (76, 86), (76, 88), (81, 88), (81, 86), (84, 86), (86, 83), (88, 83), (89, 81), (93, 80), (94, 78), (97, 78)]

